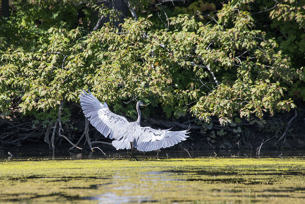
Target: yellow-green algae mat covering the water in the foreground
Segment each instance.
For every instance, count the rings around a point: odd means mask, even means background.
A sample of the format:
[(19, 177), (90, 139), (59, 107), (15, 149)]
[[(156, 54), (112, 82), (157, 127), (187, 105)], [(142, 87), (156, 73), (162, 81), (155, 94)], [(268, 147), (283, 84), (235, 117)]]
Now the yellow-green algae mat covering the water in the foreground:
[(305, 158), (0, 160), (0, 203), (305, 203)]

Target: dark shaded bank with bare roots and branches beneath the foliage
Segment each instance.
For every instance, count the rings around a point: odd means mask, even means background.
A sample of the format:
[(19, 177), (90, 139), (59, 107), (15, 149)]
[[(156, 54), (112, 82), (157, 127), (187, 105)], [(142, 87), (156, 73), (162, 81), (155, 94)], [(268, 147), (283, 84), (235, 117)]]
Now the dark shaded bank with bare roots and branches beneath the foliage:
[[(61, 124), (60, 118), (48, 125), (35, 121), (30, 116), (21, 119), (1, 118), (0, 150), (90, 151), (93, 147), (101, 147), (106, 151), (115, 151), (111, 146), (111, 140), (91, 126), (77, 104), (74, 105), (74, 112), (70, 118), (63, 119), (64, 125)], [(191, 125), (190, 137), (182, 143), (169, 147), (173, 150), (305, 148), (304, 107), (296, 112), (292, 110), (277, 113), (273, 117), (266, 116), (261, 119), (263, 124), (241, 123), (237, 128), (221, 126), (217, 121), (204, 128), (206, 124), (199, 126), (193, 119), (185, 118), (184, 121), (173, 122), (155, 118), (156, 116), (144, 117), (141, 126), (151, 126), (156, 129), (173, 127), (173, 130), (182, 130)]]

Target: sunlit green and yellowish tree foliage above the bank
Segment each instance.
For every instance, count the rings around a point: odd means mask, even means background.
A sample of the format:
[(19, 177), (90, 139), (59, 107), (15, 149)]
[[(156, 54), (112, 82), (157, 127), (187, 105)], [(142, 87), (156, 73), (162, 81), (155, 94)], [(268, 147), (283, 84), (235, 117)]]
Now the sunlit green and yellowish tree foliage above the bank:
[(87, 87), (118, 114), (135, 118), (134, 103), (123, 102), (136, 98), (151, 106), (147, 115), (161, 106), (198, 124), (249, 122), (305, 100), (304, 1), (130, 1), (138, 19), (90, 31), (92, 7), (12, 2), (0, 22), (2, 117), (53, 124), (52, 110), (65, 101), (69, 112)]

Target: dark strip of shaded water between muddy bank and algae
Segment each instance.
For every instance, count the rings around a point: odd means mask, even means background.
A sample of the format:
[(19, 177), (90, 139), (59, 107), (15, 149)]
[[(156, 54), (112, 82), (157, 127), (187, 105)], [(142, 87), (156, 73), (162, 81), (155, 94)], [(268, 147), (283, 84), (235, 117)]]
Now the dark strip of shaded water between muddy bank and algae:
[[(119, 150), (116, 152), (105, 152), (105, 156), (100, 151), (88, 151), (88, 152), (13, 152), (14, 157), (11, 155), (9, 158), (4, 151), (0, 152), (0, 159), (26, 159), (26, 158), (52, 158), (52, 159), (98, 159), (98, 158), (109, 158), (109, 159), (119, 159), (119, 158), (130, 158), (125, 150)], [(190, 155), (188, 155), (188, 152)], [(203, 150), (203, 151), (174, 151), (170, 149), (162, 149), (160, 151), (152, 152), (139, 152), (134, 151), (134, 154), (139, 157), (147, 157), (150, 159), (168, 159), (184, 157), (189, 158), (194, 157), (257, 157), (256, 150)], [(16, 156), (15, 156), (16, 155)], [(305, 157), (305, 150), (260, 150), (260, 157)]]

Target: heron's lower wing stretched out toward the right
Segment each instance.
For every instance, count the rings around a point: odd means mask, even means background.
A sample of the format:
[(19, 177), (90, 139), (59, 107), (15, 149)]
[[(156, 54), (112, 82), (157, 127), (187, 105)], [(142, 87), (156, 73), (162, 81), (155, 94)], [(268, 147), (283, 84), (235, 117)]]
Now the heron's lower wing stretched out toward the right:
[(174, 146), (175, 144), (186, 140), (189, 137), (186, 134), (190, 128), (182, 131), (156, 130), (151, 127), (138, 126), (138, 140), (134, 143), (134, 147), (139, 151), (159, 150)]

